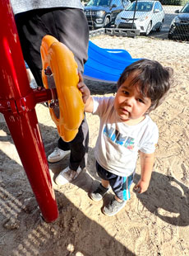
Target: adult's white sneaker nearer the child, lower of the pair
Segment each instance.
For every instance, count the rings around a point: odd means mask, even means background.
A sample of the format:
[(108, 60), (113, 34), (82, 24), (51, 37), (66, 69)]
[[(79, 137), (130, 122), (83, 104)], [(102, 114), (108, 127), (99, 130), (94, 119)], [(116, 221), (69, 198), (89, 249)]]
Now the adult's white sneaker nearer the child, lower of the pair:
[(58, 186), (71, 183), (78, 177), (81, 171), (81, 167), (78, 167), (76, 171), (73, 171), (69, 168), (69, 166), (67, 166), (67, 168), (63, 169), (62, 172), (58, 174), (58, 177), (55, 179), (55, 183), (57, 183)]

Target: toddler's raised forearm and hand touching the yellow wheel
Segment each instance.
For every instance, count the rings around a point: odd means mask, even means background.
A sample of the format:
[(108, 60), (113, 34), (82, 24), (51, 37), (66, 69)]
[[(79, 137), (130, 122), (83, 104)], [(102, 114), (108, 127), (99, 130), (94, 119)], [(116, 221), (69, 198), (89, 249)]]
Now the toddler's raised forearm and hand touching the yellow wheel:
[(78, 73), (80, 77), (80, 81), (77, 85), (79, 90), (82, 93), (83, 102), (85, 104), (85, 112), (91, 113), (93, 111), (93, 98), (90, 96), (90, 90), (83, 82), (83, 78), (81, 73)]

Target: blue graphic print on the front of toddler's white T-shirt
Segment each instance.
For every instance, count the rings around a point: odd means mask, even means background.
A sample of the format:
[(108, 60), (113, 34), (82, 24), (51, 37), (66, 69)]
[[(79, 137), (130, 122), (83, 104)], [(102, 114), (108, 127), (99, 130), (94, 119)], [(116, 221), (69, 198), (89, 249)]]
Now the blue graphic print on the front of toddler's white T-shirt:
[(118, 130), (113, 127), (108, 128), (108, 125), (104, 126), (104, 135), (118, 145), (122, 145), (127, 149), (134, 149), (135, 139), (127, 135), (122, 135)]

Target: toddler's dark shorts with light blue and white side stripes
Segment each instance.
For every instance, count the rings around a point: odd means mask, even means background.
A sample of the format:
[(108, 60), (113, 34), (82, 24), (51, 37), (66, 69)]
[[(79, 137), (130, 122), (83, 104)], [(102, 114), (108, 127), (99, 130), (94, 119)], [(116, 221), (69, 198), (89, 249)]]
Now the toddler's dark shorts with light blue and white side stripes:
[(128, 177), (118, 176), (108, 172), (106, 169), (100, 166), (98, 162), (96, 162), (96, 170), (99, 174), (99, 178), (109, 181), (109, 185), (112, 187), (113, 192), (119, 199), (124, 201), (130, 199), (130, 187), (131, 183), (133, 182), (135, 172), (131, 173), (131, 175)]

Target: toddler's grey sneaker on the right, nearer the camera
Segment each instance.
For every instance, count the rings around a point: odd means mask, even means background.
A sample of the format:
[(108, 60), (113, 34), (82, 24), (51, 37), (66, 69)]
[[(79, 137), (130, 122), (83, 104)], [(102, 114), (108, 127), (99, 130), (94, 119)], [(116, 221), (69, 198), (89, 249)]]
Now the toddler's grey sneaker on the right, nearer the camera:
[(115, 198), (113, 198), (112, 201), (109, 202), (108, 206), (104, 206), (103, 212), (107, 216), (113, 216), (118, 213), (118, 211), (121, 211), (122, 208), (126, 205), (127, 201), (117, 201)]

